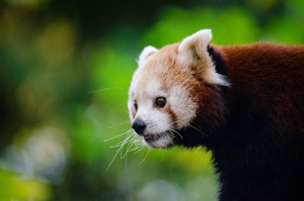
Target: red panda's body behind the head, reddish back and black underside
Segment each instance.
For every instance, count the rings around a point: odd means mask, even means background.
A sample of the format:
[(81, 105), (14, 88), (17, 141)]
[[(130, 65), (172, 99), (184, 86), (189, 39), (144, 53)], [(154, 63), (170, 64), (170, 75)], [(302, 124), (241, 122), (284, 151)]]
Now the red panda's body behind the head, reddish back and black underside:
[(219, 200), (304, 200), (304, 46), (213, 50), (231, 83), (220, 92), (224, 123), (201, 141), (213, 152)]

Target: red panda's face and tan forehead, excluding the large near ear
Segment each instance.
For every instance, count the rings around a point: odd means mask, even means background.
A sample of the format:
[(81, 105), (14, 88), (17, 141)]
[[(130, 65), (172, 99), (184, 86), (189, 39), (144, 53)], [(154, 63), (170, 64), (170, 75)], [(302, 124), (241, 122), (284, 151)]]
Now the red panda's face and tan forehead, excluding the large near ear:
[[(196, 103), (189, 94), (192, 75), (176, 62), (177, 45), (162, 50), (146, 48), (129, 91), (132, 128), (151, 147), (174, 145), (179, 129), (195, 117)], [(146, 52), (149, 51), (149, 52)], [(141, 58), (142, 59), (142, 58)]]

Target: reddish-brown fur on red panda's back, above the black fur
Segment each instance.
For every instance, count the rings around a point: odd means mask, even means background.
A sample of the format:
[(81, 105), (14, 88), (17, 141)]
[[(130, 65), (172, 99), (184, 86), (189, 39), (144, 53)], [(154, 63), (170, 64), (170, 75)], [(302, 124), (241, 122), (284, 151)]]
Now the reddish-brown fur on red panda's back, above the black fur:
[[(232, 83), (230, 97), (252, 97), (254, 104), (269, 112), (279, 134), (288, 133), (287, 125), (293, 133), (304, 133), (304, 115), (298, 112), (304, 111), (304, 46), (257, 43), (218, 50)], [(299, 121), (292, 122), (289, 114)]]

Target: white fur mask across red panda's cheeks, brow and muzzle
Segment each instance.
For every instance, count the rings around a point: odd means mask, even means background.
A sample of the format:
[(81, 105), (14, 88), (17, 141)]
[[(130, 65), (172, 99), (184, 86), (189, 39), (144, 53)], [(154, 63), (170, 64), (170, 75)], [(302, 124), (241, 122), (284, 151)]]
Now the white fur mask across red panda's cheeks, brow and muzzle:
[[(178, 135), (176, 130), (189, 125), (195, 117), (197, 106), (182, 85), (175, 85), (164, 91), (162, 81), (151, 74), (147, 77), (141, 74), (144, 72), (141, 69), (135, 72), (130, 87), (128, 107), (131, 122), (140, 118), (145, 123), (144, 144), (158, 148), (171, 147), (174, 145), (174, 136)], [(144, 78), (146, 80), (142, 82)], [(140, 86), (143, 83), (145, 86)], [(155, 102), (158, 97), (166, 98), (164, 108), (156, 107)], [(134, 108), (135, 100), (137, 111)], [(176, 119), (173, 119), (168, 109), (175, 114)], [(134, 112), (135, 117), (133, 117)], [(147, 136), (152, 137), (147, 139)]]

